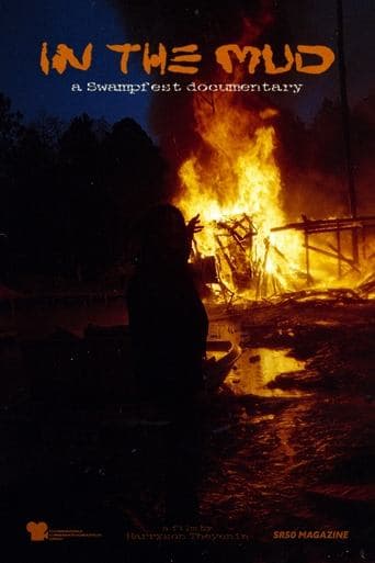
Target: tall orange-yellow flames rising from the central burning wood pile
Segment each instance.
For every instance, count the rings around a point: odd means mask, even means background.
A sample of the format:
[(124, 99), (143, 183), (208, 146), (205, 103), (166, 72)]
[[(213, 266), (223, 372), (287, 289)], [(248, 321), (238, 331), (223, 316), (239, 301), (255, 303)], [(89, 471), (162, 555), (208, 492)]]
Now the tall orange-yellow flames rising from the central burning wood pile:
[(299, 233), (271, 233), (286, 222), (270, 123), (276, 111), (235, 102), (232, 94), (195, 98), (202, 145), (180, 168), (175, 203), (186, 217), (201, 215), (195, 254), (216, 257), (221, 290), (266, 296), (296, 288), (303, 245)]

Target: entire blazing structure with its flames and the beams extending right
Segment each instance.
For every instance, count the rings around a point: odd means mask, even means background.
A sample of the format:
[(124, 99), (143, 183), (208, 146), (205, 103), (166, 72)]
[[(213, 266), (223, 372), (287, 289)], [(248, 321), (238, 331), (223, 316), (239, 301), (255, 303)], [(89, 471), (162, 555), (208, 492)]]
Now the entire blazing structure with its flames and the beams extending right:
[(175, 203), (186, 216), (200, 214), (205, 229), (193, 262), (227, 302), (312, 285), (353, 288), (370, 273), (375, 216), (312, 221), (302, 214), (291, 222), (284, 211), (277, 113), (243, 106), (234, 93), (195, 94), (202, 143), (179, 170)]

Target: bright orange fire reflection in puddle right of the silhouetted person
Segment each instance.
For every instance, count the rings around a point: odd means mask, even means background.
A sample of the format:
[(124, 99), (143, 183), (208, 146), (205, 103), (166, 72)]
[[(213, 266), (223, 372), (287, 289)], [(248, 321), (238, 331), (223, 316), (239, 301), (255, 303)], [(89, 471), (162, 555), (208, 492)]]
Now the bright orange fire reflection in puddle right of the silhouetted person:
[(298, 372), (305, 369), (305, 362), (287, 356), (289, 348), (251, 348), (245, 349), (237, 361), (236, 370), (231, 370), (225, 380), (225, 384), (236, 395), (260, 396), (306, 396), (299, 391), (271, 390), (266, 384), (273, 381), (280, 373)]

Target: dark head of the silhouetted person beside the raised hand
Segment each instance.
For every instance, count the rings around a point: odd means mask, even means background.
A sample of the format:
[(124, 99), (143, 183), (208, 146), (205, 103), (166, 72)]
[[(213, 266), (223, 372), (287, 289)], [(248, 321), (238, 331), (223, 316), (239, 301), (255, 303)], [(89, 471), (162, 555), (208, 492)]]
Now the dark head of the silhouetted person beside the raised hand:
[(182, 264), (189, 258), (186, 225), (180, 210), (170, 204), (150, 209), (137, 226), (137, 261)]

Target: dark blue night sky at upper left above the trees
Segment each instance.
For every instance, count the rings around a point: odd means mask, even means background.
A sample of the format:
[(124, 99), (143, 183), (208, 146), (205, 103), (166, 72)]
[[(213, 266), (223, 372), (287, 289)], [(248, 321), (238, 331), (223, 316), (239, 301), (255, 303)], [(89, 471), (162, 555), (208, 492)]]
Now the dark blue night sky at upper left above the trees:
[[(72, 82), (128, 81), (118, 71), (118, 56), (111, 54), (107, 43), (125, 43), (126, 32), (114, 8), (106, 0), (5, 0), (1, 2), (0, 91), (9, 95), (14, 109), (26, 120), (41, 113), (58, 115), (64, 120), (87, 112), (115, 122), (130, 115), (146, 125), (149, 100), (145, 95), (106, 95), (88, 92), (71, 93)], [(91, 42), (94, 45), (91, 69), (82, 72), (67, 69), (64, 75), (52, 71), (45, 76), (39, 69), (39, 49), (43, 41), (54, 53), (58, 43), (75, 48), (77, 55)], [(144, 76), (132, 72), (132, 81)]]

